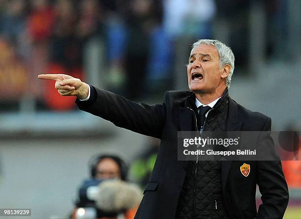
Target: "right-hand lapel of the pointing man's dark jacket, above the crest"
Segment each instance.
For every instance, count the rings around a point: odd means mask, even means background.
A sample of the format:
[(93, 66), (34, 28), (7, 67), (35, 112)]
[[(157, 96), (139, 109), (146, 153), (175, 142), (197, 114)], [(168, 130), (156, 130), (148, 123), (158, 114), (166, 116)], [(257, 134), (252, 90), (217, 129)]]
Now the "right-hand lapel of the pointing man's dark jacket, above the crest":
[[(228, 111), (228, 119), (227, 119), (227, 131), (241, 131), (242, 121), (239, 119), (239, 113), (237, 104), (234, 100), (229, 97), (229, 111)], [(231, 136), (229, 136), (231, 137)], [(229, 174), (229, 170), (231, 167), (232, 161), (222, 161), (222, 189), (225, 194), (227, 178)]]

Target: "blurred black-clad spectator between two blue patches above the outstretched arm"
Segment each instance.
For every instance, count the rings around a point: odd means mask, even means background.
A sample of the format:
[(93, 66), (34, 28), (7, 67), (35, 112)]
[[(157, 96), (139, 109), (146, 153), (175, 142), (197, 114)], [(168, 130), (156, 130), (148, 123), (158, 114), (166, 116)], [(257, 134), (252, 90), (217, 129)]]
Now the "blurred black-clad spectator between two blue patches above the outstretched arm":
[(126, 97), (137, 100), (146, 92), (151, 34), (161, 23), (161, 3), (157, 0), (130, 0), (126, 15), (125, 53)]

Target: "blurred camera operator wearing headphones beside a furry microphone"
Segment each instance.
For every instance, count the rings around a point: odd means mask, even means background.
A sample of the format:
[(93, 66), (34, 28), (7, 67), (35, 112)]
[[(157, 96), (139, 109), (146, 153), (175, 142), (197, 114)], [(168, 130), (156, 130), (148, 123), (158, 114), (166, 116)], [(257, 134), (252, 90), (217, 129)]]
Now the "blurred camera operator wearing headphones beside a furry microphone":
[(125, 182), (127, 165), (113, 155), (91, 158), (90, 179), (79, 189), (72, 219), (133, 219), (142, 192)]

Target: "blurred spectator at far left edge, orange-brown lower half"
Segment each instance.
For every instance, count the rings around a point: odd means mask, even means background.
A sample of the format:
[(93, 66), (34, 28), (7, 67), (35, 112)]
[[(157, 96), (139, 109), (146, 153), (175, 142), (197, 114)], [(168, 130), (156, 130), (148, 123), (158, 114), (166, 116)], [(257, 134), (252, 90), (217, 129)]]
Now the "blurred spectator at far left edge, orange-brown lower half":
[[(26, 91), (26, 65), (22, 60), (22, 42), (26, 28), (26, 1), (1, 4), (0, 14), (0, 97), (1, 110), (17, 109), (18, 99)], [(4, 4), (6, 3), (6, 4)], [(6, 7), (5, 7), (6, 6)], [(5, 9), (4, 9), (5, 8)]]

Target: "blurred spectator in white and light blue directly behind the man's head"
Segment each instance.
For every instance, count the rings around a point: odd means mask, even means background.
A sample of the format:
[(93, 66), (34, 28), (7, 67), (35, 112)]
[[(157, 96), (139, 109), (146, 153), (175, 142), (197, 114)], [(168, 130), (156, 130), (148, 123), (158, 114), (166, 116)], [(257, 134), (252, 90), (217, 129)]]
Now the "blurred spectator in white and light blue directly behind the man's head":
[[(211, 39), (214, 0), (166, 0), (163, 1), (163, 27), (172, 42), (169, 47), (170, 75), (176, 89), (187, 90), (185, 64), (190, 53), (189, 44), (197, 39)], [(168, 48), (168, 47), (167, 47)], [(172, 73), (172, 74), (171, 74)], [(175, 88), (171, 88), (175, 89)]]

